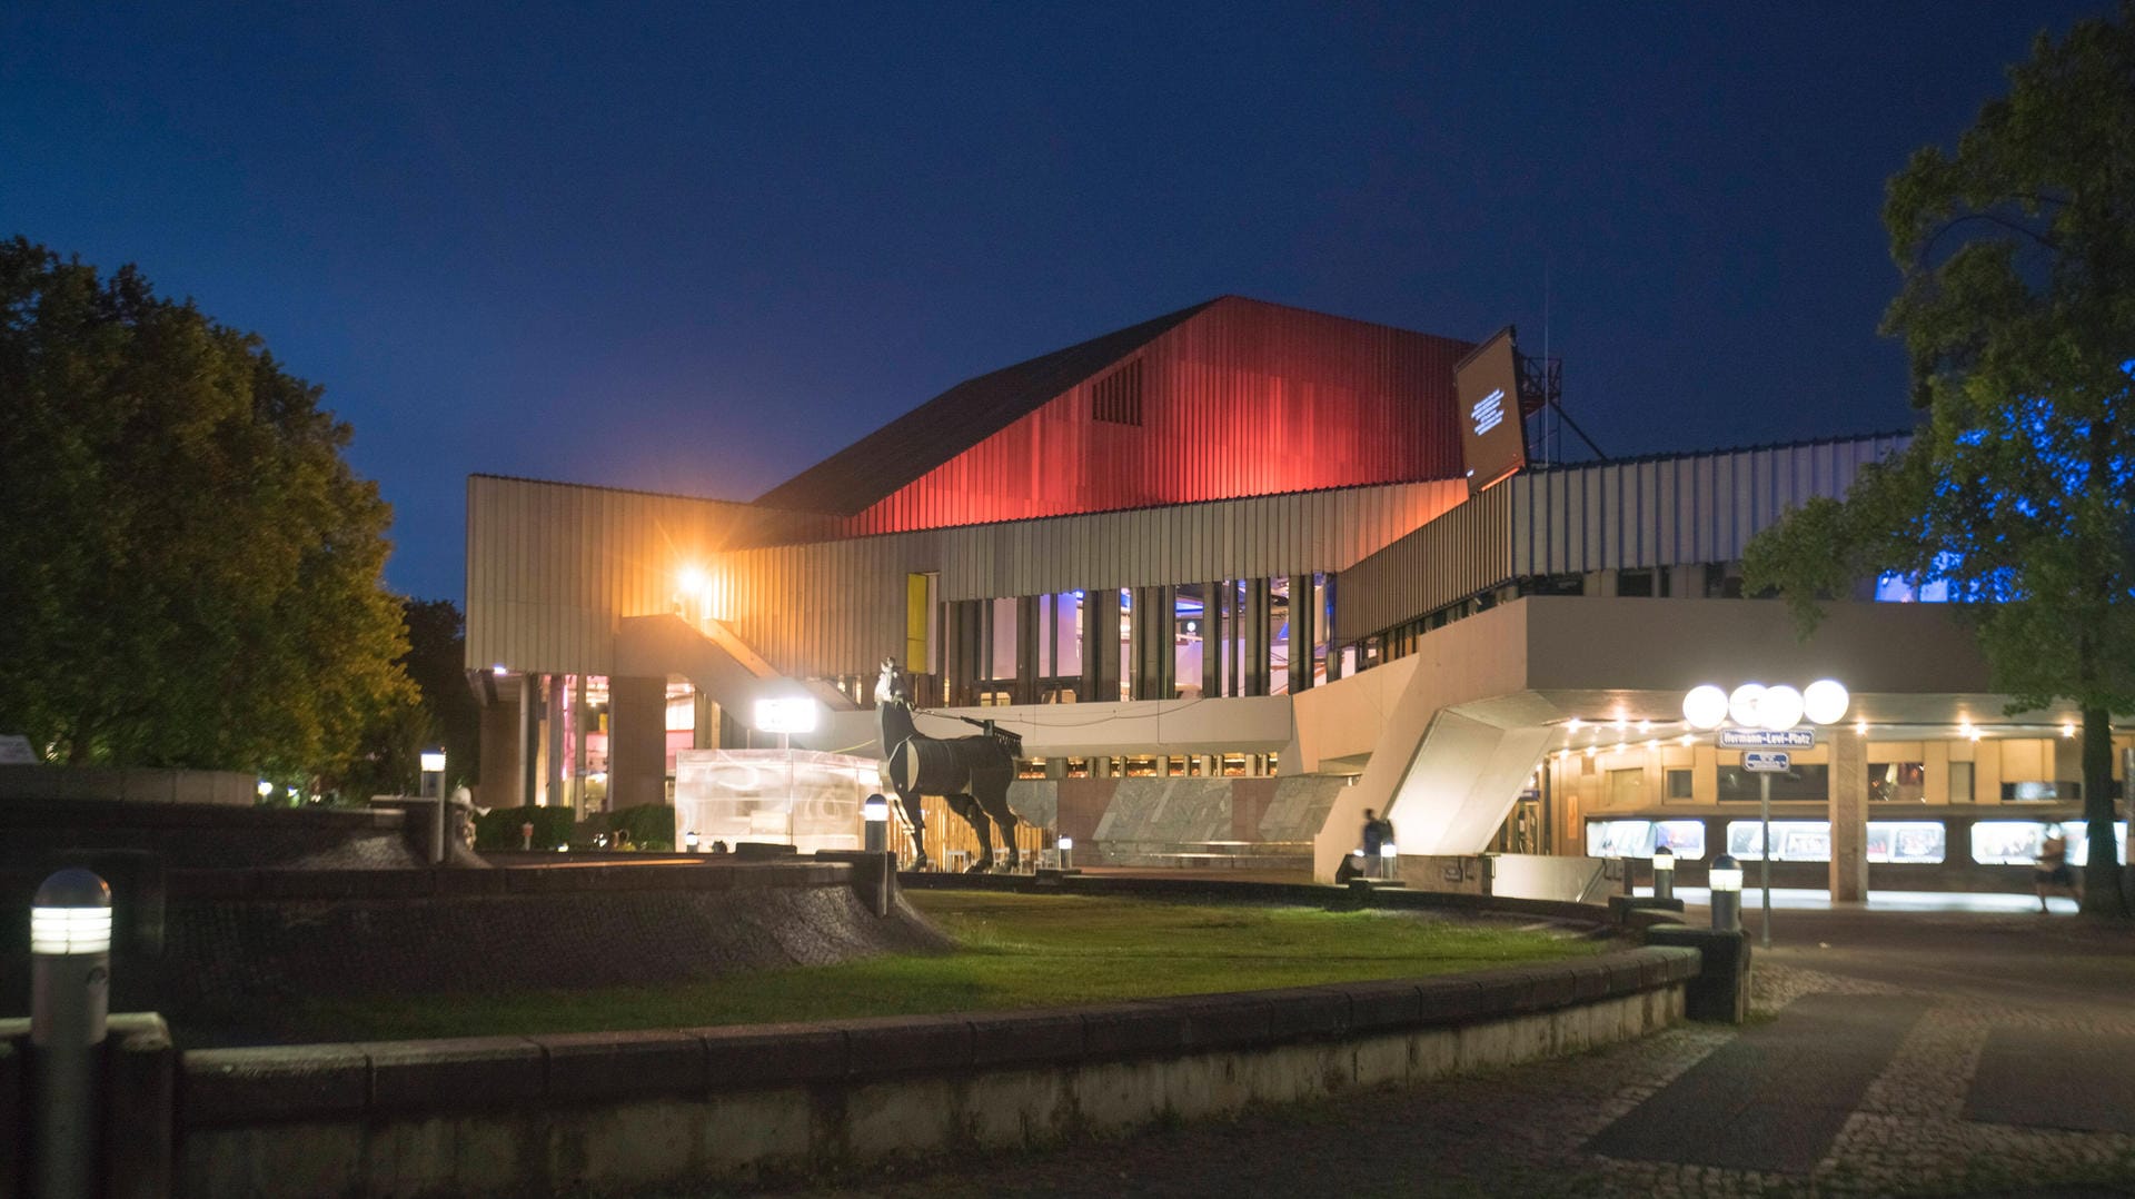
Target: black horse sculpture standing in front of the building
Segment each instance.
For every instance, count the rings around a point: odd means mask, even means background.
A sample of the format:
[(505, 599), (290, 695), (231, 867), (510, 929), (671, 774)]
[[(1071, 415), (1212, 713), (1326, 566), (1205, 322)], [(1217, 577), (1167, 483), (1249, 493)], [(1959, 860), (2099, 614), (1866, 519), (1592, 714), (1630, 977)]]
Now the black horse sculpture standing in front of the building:
[(950, 810), (978, 831), (980, 857), (971, 866), (974, 874), (995, 868), (993, 827), (1001, 829), (1008, 868), (1021, 863), (1008, 784), (1016, 780), (1023, 737), (997, 731), (991, 720), (984, 722), (984, 733), (971, 737), (920, 733), (912, 722), (912, 697), (905, 692), (905, 673), (897, 667), (897, 658), (884, 658), (882, 678), (875, 680), (875, 727), (882, 731), (884, 774), (897, 791), (897, 801), (905, 806), (905, 819), (912, 821), (912, 840), (918, 844), (916, 870), (927, 868), (927, 819), (920, 814), (920, 795), (948, 799)]

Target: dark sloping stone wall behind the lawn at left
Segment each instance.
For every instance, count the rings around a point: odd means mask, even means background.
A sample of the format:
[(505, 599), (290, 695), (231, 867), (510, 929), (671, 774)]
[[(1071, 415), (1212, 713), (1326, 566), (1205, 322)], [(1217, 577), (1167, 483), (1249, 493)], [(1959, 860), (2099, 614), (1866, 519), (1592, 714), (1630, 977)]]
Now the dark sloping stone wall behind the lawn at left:
[[(732, 857), (171, 870), (156, 896), (113, 876), (113, 1002), (164, 1011), (222, 1039), (273, 1039), (273, 1013), (299, 996), (662, 985), (948, 947), (895, 887), (871, 887), (865, 874), (845, 859)], [(34, 887), (32, 872), (0, 870), (0, 1015), (28, 1009)]]

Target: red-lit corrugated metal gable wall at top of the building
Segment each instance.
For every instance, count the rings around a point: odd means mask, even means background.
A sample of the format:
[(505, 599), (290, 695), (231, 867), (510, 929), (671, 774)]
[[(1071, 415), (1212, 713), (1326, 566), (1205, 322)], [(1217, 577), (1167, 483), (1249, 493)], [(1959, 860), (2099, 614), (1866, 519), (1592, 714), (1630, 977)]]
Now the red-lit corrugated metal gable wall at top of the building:
[(1142, 423), (1097, 421), (1095, 380), (1085, 380), (845, 532), (1456, 479), (1452, 363), (1467, 348), (1225, 297), (1129, 355), (1140, 363)]

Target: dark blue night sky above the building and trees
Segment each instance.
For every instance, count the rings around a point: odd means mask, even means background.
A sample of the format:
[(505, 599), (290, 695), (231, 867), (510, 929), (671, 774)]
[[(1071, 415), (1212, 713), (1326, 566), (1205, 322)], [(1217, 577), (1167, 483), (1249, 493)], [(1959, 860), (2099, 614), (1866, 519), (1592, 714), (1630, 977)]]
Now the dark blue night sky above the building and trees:
[(0, 235), (263, 333), (455, 601), (470, 472), (752, 498), (1219, 293), (1548, 325), (1618, 455), (1902, 427), (1883, 180), (2109, 13), (288, 9), (0, 9)]

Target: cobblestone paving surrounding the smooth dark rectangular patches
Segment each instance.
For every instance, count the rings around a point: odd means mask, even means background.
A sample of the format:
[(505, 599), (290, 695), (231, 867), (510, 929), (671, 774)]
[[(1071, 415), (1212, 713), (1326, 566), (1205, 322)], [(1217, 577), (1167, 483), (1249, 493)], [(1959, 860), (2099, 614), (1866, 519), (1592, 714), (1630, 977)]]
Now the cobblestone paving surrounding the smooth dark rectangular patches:
[[(1919, 994), (1932, 1007), (1808, 1175), (1612, 1161), (1586, 1141), (1736, 1037), (1682, 1024), (1631, 1045), (1420, 1088), (969, 1165), (912, 1163), (792, 1190), (920, 1195), (2135, 1195), (2135, 1135), (1964, 1120), (1996, 1028), (2135, 1037), (2135, 940), (1915, 917), (1796, 917), (1800, 949), (1761, 955), (1755, 1019), (1804, 994)], [(2073, 940), (2071, 940), (2073, 938)], [(2071, 957), (2073, 955), (2073, 957)]]

